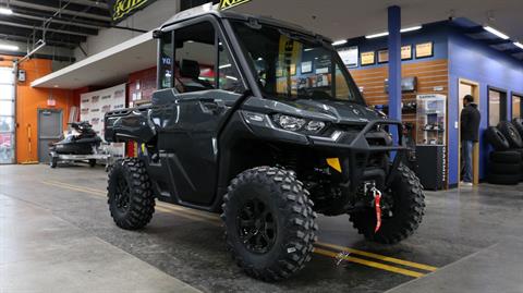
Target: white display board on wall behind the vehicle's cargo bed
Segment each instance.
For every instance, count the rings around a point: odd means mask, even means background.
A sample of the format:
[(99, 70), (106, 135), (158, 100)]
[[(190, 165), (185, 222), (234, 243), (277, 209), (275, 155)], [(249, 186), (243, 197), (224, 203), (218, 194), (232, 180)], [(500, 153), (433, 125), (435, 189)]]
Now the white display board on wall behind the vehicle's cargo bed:
[[(125, 84), (81, 95), (80, 120), (88, 121), (104, 138), (104, 115), (111, 110), (125, 108)], [(122, 155), (123, 144), (111, 144), (110, 154)]]

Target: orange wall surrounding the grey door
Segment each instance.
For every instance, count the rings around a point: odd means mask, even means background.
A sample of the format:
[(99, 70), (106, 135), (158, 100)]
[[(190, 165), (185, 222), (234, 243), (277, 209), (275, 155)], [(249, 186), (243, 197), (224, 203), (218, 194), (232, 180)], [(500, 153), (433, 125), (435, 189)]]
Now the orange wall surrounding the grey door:
[[(13, 66), (11, 57), (1, 57), (0, 66)], [(21, 70), (26, 72), (26, 81), (16, 85), (16, 160), (21, 162), (38, 161), (38, 109), (61, 109), (63, 130), (66, 129), (69, 111), (77, 106), (73, 93), (69, 89), (33, 88), (31, 82), (51, 73), (51, 60), (33, 59), (23, 62)], [(54, 107), (47, 106), (48, 98), (56, 100)]]

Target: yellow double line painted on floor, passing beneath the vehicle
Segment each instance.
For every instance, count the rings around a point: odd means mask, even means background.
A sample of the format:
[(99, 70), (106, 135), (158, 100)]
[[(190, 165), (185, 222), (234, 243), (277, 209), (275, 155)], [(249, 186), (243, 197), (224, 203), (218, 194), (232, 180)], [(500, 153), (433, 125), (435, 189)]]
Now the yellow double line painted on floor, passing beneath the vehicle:
[[(69, 190), (72, 190), (72, 191), (88, 193), (88, 194), (93, 194), (93, 195), (97, 195), (97, 196), (104, 196), (104, 197), (107, 196), (107, 193), (105, 191), (101, 191), (101, 190), (95, 190), (95, 188), (89, 188), (89, 187), (84, 187), (84, 186), (71, 185), (71, 184), (63, 183), (63, 182), (58, 182), (58, 181), (41, 181), (41, 183), (47, 184), (47, 185), (51, 185), (51, 186), (69, 188)], [(191, 219), (191, 220), (205, 221), (205, 222), (211, 223), (214, 225), (221, 225), (221, 222), (219, 222), (219, 217), (215, 216), (215, 215), (206, 215), (206, 213), (203, 213), (200, 211), (191, 210), (188, 208), (168, 205), (168, 204), (161, 204), (161, 203), (156, 206), (156, 209), (159, 210), (159, 211), (163, 211), (163, 212), (175, 213), (177, 216), (187, 218), (187, 219)], [(393, 264), (398, 264), (398, 265), (409, 266), (409, 267), (412, 267), (412, 268), (418, 268), (418, 269), (423, 269), (423, 270), (427, 270), (427, 271), (437, 270), (436, 267), (422, 265), (422, 264), (416, 264), (416, 263), (402, 260), (402, 259), (398, 259), (398, 258), (381, 256), (381, 255), (378, 255), (378, 254), (367, 253), (367, 252), (363, 252), (363, 251), (358, 251), (358, 249), (354, 249), (354, 248), (350, 248), (350, 247), (344, 247), (344, 246), (340, 246), (340, 245), (321, 243), (321, 242), (317, 242), (316, 244), (325, 246), (325, 247), (330, 247), (330, 248), (333, 248), (333, 249), (338, 249), (340, 252), (357, 254), (357, 255), (379, 259), (379, 260), (382, 260), (382, 261), (388, 261), (388, 263), (393, 263)], [(360, 264), (360, 265), (364, 265), (364, 266), (368, 266), (368, 267), (373, 267), (373, 268), (377, 268), (377, 269), (382, 269), (382, 270), (387, 270), (387, 271), (391, 271), (391, 272), (396, 272), (396, 273), (400, 273), (400, 274), (404, 274), (404, 276), (410, 276), (410, 277), (414, 277), (414, 278), (419, 278), (419, 277), (425, 276), (424, 273), (421, 273), (421, 272), (417, 272), (417, 271), (412, 271), (412, 270), (408, 270), (408, 269), (403, 269), (403, 268), (398, 268), (398, 267), (393, 267), (393, 266), (390, 266), (390, 265), (375, 263), (375, 261), (370, 261), (370, 260), (366, 260), (366, 259), (362, 259), (362, 258), (357, 258), (357, 257), (353, 257), (353, 256), (340, 255), (340, 254), (337, 254), (335, 252), (326, 251), (326, 249), (321, 249), (321, 248), (317, 248), (317, 247), (314, 249), (314, 253), (316, 253), (318, 255), (331, 257), (331, 258), (335, 258), (335, 259), (339, 259), (340, 257), (342, 257), (346, 261), (351, 261), (351, 263), (355, 263), (355, 264)]]

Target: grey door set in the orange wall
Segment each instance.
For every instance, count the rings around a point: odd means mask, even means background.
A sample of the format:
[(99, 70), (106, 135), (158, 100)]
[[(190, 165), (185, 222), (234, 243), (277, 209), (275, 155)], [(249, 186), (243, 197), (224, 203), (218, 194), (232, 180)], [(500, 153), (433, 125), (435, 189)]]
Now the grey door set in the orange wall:
[(38, 161), (49, 162), (49, 144), (62, 137), (62, 110), (38, 109)]

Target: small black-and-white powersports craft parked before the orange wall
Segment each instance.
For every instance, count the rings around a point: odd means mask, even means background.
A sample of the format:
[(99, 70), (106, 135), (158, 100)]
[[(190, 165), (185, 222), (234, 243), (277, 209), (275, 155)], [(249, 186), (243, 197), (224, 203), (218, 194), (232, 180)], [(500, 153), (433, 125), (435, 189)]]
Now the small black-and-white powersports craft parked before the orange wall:
[[(49, 146), (50, 166), (56, 168), (62, 156), (88, 156), (97, 152), (100, 147), (101, 138), (93, 130), (93, 125), (87, 121), (73, 122), (70, 124), (74, 131), (62, 141)], [(87, 157), (86, 157), (87, 158)], [(89, 164), (96, 164), (96, 159), (88, 159)]]

